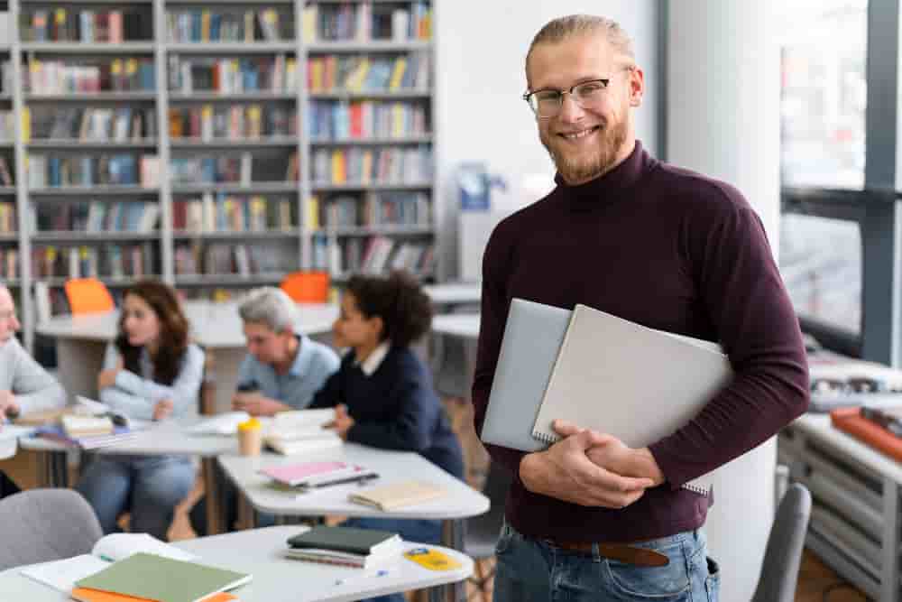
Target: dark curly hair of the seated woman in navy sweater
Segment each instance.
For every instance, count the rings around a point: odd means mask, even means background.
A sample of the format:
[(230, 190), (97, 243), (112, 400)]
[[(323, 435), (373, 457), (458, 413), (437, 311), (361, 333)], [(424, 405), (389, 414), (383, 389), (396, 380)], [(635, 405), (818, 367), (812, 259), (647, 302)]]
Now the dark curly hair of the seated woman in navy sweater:
[(432, 300), (419, 282), (403, 271), (388, 277), (354, 275), (347, 282), (357, 309), (367, 318), (382, 318), (382, 340), (407, 347), (432, 325)]

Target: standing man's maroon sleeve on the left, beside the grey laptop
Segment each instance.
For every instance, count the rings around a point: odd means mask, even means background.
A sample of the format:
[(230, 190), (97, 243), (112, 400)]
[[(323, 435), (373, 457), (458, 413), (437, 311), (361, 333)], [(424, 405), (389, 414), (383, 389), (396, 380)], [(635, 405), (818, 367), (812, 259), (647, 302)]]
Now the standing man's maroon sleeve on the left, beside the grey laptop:
[[(479, 434), (483, 431), (485, 411), (489, 405), (489, 393), (492, 391), (492, 380), (495, 366), (498, 364), (510, 304), (502, 282), (512, 251), (510, 243), (503, 236), (503, 226), (504, 222), (492, 232), (483, 254), (483, 293), (472, 394), (474, 426)], [(526, 455), (522, 451), (496, 445), (486, 445), (485, 449), (493, 461), (509, 468), (515, 476), (519, 474), (520, 460)]]

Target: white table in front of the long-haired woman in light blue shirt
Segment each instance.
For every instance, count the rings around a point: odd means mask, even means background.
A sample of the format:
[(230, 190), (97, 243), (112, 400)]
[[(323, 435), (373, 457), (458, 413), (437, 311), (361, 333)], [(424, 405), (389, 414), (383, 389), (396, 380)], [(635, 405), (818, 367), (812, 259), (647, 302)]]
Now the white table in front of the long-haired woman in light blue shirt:
[[(108, 448), (92, 449), (90, 452), (99, 455), (198, 456), (207, 493), (207, 529), (209, 533), (221, 533), (223, 525), (219, 509), (222, 507), (223, 493), (216, 479), (216, 456), (237, 454), (238, 440), (235, 436), (191, 435), (186, 432), (198, 420), (186, 418), (155, 423), (132, 440)], [(44, 485), (69, 485), (69, 471), (66, 467), (66, 457), (71, 449), (69, 446), (41, 438), (23, 438), (19, 440), (19, 444), (23, 449), (43, 452)]]

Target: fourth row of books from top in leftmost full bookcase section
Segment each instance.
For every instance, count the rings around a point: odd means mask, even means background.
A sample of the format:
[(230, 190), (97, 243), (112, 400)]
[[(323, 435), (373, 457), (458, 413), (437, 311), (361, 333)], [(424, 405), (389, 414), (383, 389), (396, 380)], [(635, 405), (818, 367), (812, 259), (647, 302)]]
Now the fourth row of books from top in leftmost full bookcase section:
[(115, 154), (35, 154), (28, 157), (30, 188), (57, 186), (159, 185), (157, 155)]

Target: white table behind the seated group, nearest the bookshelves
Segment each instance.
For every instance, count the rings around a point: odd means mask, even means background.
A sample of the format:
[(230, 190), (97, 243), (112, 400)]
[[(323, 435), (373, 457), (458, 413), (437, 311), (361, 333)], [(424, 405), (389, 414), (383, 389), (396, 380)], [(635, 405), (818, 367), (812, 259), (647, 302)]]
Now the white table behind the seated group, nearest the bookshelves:
[[(216, 381), (216, 412), (225, 412), (231, 407), (238, 366), (246, 354), (237, 301), (188, 301), (184, 308), (193, 340), (213, 360), (214, 374), (207, 379)], [(296, 328), (303, 334), (321, 335), (331, 331), (337, 317), (336, 305), (301, 303)], [(119, 311), (115, 310), (57, 316), (38, 324), (41, 335), (56, 340), (60, 384), (69, 395), (97, 398), (97, 375), (106, 344), (118, 332), (118, 321)]]

